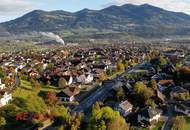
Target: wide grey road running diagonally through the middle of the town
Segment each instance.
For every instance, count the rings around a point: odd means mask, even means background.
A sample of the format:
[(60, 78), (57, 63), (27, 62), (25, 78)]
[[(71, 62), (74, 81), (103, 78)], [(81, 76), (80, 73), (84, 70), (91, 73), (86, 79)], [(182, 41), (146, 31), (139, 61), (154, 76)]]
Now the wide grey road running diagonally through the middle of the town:
[(73, 112), (85, 112), (87, 110), (89, 110), (89, 108), (92, 107), (92, 105), (96, 102), (96, 101), (103, 101), (109, 94), (109, 91), (111, 89), (113, 89), (114, 87), (117, 87), (119, 85), (122, 85), (121, 82), (119, 82), (118, 80), (121, 79), (125, 74), (129, 73), (131, 70), (136, 69), (140, 66), (136, 65), (134, 67), (131, 67), (130, 69), (128, 69), (127, 71), (125, 71), (124, 73), (118, 75), (116, 78), (106, 81), (105, 84), (103, 84), (102, 86), (100, 86), (99, 89), (97, 89), (94, 93), (92, 93), (89, 97), (87, 97), (86, 99), (84, 99), (78, 106), (76, 106), (72, 111)]

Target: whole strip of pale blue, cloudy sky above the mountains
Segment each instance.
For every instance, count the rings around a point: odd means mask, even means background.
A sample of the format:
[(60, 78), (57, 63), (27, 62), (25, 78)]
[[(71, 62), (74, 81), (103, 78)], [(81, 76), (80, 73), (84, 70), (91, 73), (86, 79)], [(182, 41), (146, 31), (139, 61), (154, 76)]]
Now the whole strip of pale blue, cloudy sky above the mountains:
[(190, 0), (0, 0), (0, 22), (15, 19), (35, 9), (75, 12), (83, 8), (97, 10), (126, 3), (148, 3), (170, 11), (190, 14)]

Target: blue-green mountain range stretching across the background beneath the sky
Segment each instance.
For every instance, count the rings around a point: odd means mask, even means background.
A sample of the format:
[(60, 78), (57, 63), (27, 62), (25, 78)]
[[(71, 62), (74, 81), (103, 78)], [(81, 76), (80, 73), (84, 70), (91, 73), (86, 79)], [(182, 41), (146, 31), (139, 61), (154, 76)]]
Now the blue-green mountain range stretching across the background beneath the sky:
[(102, 10), (34, 10), (0, 24), (0, 35), (54, 32), (70, 35), (129, 33), (143, 37), (189, 35), (190, 16), (148, 4), (110, 6)]

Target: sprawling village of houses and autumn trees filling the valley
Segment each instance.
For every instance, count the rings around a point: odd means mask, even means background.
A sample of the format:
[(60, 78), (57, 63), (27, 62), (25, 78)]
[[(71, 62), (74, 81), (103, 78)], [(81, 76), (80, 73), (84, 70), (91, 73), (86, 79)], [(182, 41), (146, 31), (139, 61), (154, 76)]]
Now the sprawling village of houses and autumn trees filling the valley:
[(188, 52), (144, 44), (1, 52), (0, 129), (187, 130)]

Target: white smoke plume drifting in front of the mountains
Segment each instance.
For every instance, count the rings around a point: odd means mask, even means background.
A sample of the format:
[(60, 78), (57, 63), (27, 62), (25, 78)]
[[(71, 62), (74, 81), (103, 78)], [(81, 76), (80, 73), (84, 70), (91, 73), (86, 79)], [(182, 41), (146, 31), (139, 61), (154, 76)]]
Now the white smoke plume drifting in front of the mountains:
[(49, 37), (51, 39), (54, 39), (54, 40), (56, 40), (56, 42), (59, 42), (59, 43), (65, 45), (64, 40), (59, 35), (56, 35), (52, 32), (40, 32), (40, 34), (43, 36)]

